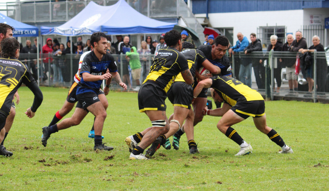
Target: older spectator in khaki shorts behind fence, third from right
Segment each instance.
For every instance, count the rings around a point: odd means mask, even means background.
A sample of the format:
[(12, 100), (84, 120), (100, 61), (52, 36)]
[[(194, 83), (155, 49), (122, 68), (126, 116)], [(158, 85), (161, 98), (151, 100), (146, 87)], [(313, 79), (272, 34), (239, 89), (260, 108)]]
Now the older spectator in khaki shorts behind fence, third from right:
[[(292, 34), (287, 35), (287, 42), (283, 45), (282, 51), (288, 52), (290, 50), (291, 44), (293, 41)], [(288, 80), (289, 85), (289, 94), (286, 96), (293, 96), (293, 91), (298, 91), (298, 82), (297, 82), (297, 74), (295, 73), (295, 65), (296, 65), (296, 58), (283, 58), (279, 59), (282, 62), (283, 66), (286, 66), (286, 78)]]

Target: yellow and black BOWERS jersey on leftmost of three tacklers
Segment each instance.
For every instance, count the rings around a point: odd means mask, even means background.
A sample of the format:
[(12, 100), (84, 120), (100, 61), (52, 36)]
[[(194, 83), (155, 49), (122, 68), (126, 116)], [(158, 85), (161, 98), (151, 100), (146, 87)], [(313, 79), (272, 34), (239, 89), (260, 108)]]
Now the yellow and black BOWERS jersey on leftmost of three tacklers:
[(167, 92), (177, 75), (187, 69), (186, 57), (177, 49), (166, 46), (155, 54), (150, 73), (143, 83), (154, 80)]

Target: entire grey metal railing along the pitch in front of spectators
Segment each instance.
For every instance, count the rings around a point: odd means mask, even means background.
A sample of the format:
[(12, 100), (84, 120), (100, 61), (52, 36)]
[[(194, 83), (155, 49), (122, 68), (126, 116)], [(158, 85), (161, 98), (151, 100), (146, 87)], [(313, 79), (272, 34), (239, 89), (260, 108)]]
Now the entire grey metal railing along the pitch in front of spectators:
[[(247, 55), (235, 53), (228, 58), (231, 62), (233, 77), (268, 99), (293, 97), (313, 101), (329, 100), (329, 53), (311, 54), (313, 64), (305, 70), (304, 63), (301, 63), (298, 75), (294, 73), (296, 59), (300, 59), (300, 53), (253, 52)], [(133, 79), (133, 72), (125, 54), (113, 54), (113, 56), (121, 79), (127, 84), (128, 89), (136, 90), (137, 81), (136, 78)], [(39, 66), (40, 85), (69, 87), (78, 71), (79, 58), (79, 54), (62, 56), (42, 54)], [(140, 55), (140, 83), (149, 73), (153, 58), (154, 55), (151, 54)], [(20, 54), (19, 59), (29, 67), (35, 79), (38, 79), (37, 54)], [(314, 84), (312, 85), (312, 80), (309, 83), (310, 79), (307, 78), (313, 79)], [(112, 83), (114, 88), (119, 88), (114, 81)]]

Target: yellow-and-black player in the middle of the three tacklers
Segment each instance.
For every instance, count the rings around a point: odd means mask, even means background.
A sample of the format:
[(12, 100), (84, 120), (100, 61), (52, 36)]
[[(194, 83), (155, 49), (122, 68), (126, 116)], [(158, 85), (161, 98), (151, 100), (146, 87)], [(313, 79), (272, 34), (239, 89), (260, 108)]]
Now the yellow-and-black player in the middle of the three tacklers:
[[(183, 42), (183, 49), (181, 53), (186, 57), (191, 74), (195, 77), (195, 72), (202, 66), (207, 70), (213, 71), (215, 74), (220, 73), (220, 68), (209, 62), (206, 56), (198, 49), (194, 49), (194, 46), (190, 42)], [(195, 80), (194, 80), (195, 81)], [(169, 117), (169, 121), (174, 120), (176, 123), (170, 123), (170, 130), (164, 136), (167, 138), (165, 144), (163, 145), (165, 149), (170, 149), (169, 137), (173, 137), (173, 147), (174, 149), (179, 149), (179, 139), (183, 135), (183, 122), (186, 119), (185, 128), (187, 129), (187, 137), (190, 153), (194, 154), (197, 152), (196, 143), (193, 140), (193, 120), (194, 114), (191, 109), (191, 103), (193, 99), (193, 87), (185, 83), (182, 74), (178, 74), (175, 82), (171, 85), (169, 91), (167, 92), (168, 99), (174, 106), (174, 113)], [(189, 126), (189, 127), (187, 127)], [(192, 131), (192, 133), (190, 133)], [(190, 136), (192, 135), (192, 136)], [(146, 152), (148, 154), (148, 152)], [(153, 153), (154, 154), (154, 153)], [(151, 155), (153, 155), (151, 153)]]

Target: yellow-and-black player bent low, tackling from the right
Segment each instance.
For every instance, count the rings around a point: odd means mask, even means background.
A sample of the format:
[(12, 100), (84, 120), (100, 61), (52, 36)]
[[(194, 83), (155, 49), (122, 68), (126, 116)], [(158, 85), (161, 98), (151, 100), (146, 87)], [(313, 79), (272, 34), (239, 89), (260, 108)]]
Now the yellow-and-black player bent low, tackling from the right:
[(250, 116), (253, 117), (256, 128), (282, 148), (279, 153), (293, 153), (291, 147), (285, 144), (280, 135), (266, 125), (265, 102), (256, 90), (229, 76), (213, 76), (202, 80), (194, 89), (193, 96), (199, 95), (203, 88), (213, 88), (214, 99), (224, 102), (222, 108), (215, 110), (208, 110), (205, 107), (204, 115), (222, 116), (217, 123), (217, 128), (240, 145), (240, 151), (236, 156), (251, 153), (252, 147), (231, 126)]

